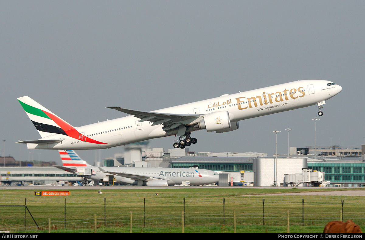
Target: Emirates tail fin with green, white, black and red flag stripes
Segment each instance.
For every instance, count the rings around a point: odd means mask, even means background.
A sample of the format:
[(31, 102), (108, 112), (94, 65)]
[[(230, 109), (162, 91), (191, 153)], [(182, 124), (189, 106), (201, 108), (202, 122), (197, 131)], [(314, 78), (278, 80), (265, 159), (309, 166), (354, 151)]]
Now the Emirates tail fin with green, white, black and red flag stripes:
[(28, 96), (19, 97), (18, 101), (42, 138), (54, 133), (70, 135), (69, 133), (74, 131), (74, 127), (41, 104), (38, 104), (38, 102), (34, 101), (32, 98)]

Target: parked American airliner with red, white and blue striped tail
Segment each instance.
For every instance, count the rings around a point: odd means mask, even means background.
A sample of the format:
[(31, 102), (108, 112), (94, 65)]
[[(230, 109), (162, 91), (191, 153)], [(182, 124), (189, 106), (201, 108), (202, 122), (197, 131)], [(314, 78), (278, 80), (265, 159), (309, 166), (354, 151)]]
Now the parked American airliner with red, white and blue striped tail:
[(189, 182), (190, 185), (216, 183), (219, 174), (205, 169), (180, 169), (160, 167), (95, 167), (82, 160), (73, 150), (58, 150), (63, 166), (59, 169), (94, 181), (104, 177), (115, 178), (115, 183), (145, 186), (173, 186)]

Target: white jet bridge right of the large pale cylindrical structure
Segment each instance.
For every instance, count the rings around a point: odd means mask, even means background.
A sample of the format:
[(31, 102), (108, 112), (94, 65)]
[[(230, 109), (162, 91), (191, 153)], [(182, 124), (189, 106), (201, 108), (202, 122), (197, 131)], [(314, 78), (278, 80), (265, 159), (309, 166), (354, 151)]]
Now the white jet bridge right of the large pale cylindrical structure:
[(302, 183), (313, 184), (314, 186), (327, 186), (330, 182), (324, 180), (324, 173), (303, 169), (301, 173), (284, 174), (284, 182), (287, 186), (298, 186)]

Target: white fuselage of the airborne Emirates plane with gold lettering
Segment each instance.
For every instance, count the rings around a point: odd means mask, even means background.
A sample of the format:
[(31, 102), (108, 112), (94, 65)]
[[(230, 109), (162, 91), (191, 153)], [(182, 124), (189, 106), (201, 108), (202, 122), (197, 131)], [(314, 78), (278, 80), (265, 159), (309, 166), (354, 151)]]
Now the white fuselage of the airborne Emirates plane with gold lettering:
[[(325, 102), (342, 90), (341, 86), (330, 84), (330, 81), (324, 80), (295, 81), (246, 92), (226, 94), (208, 100), (159, 109), (153, 112), (200, 114), (201, 119), (203, 119), (204, 116), (208, 116), (210, 113), (226, 111), (229, 115), (228, 119), (234, 124), (253, 117), (304, 108), (315, 104), (319, 105), (320, 102)], [(178, 128), (171, 129), (170, 131), (165, 129), (165, 131), (163, 129), (164, 126), (161, 124), (155, 125), (148, 120), (142, 122), (140, 120), (140, 118), (134, 116), (126, 116), (75, 127), (76, 133), (72, 137), (55, 133), (42, 138), (63, 139), (61, 142), (48, 144), (27, 143), (27, 145), (29, 149), (103, 149), (176, 135), (178, 133)], [(186, 125), (188, 126), (187, 132), (200, 129), (208, 130), (200, 122), (199, 124), (194, 122), (191, 125), (189, 123)]]

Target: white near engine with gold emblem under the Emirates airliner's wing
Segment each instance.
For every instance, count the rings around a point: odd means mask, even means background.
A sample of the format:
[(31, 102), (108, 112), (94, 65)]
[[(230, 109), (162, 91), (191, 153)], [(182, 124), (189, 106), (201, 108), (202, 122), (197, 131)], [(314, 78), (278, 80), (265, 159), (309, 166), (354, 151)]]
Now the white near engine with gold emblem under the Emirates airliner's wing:
[(199, 128), (207, 129), (208, 132), (227, 132), (226, 130), (231, 128), (228, 111), (212, 112), (204, 115), (203, 120), (199, 121)]

